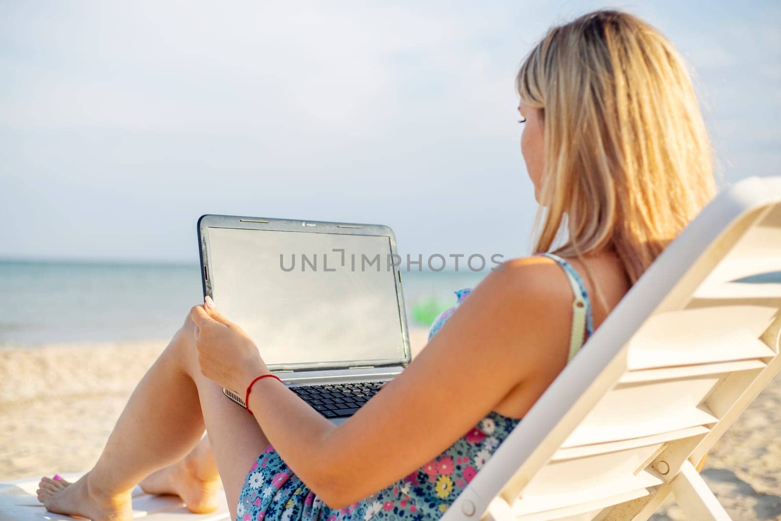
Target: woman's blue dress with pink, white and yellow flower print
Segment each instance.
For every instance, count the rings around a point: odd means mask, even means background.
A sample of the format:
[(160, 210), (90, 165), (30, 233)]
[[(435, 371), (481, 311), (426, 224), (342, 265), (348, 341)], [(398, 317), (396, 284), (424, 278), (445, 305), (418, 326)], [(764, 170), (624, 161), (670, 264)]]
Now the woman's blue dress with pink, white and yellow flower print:
[[(470, 291), (469, 288), (455, 291), (458, 299), (455, 306), (437, 316), (429, 338), (437, 334)], [(587, 333), (590, 334), (590, 328)], [(439, 519), (519, 421), (498, 412), (489, 412), (426, 465), (344, 509), (326, 506), (269, 445), (252, 464), (244, 480), (236, 519)]]

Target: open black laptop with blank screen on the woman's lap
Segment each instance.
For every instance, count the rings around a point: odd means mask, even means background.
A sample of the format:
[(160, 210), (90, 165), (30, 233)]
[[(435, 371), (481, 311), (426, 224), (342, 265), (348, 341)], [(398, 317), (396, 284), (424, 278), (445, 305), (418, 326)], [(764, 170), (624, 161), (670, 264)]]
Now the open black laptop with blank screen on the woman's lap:
[[(205, 215), (198, 247), (204, 295), (333, 423), (412, 360), (391, 228)], [(244, 407), (244, 390), (223, 393)]]

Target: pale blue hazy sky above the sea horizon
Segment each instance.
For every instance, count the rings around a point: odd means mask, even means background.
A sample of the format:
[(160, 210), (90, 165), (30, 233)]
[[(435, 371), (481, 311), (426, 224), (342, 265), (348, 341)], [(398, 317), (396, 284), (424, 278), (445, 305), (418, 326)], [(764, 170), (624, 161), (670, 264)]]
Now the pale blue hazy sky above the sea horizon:
[(719, 170), (779, 175), (778, 2), (0, 2), (0, 258), (198, 262), (204, 213), (530, 252), (513, 79), (626, 9), (689, 63)]

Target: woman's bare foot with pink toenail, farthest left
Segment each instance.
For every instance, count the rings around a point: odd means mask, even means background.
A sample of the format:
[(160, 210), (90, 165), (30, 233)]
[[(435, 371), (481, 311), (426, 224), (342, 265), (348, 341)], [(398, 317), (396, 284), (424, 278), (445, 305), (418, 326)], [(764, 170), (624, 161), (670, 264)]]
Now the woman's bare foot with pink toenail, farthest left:
[(130, 491), (113, 494), (99, 490), (84, 474), (76, 483), (44, 477), (38, 483), (38, 501), (49, 512), (86, 517), (95, 521), (128, 521), (133, 519)]

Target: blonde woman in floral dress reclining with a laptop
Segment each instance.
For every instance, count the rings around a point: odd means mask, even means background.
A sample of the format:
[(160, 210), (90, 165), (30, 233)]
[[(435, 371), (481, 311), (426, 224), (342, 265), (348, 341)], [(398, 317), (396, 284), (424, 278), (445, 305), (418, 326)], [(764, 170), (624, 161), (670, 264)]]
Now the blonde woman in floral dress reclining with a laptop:
[[(254, 414), (230, 403), (220, 387), (244, 390), (268, 369), (262, 345), (207, 300), (138, 384), (95, 468), (74, 484), (41, 480), (46, 508), (130, 519), (141, 482), (205, 511), (221, 478), (240, 521), (440, 517), (715, 193), (683, 62), (637, 18), (598, 11), (554, 27), (517, 87), (540, 203), (534, 250), (560, 240), (555, 254), (512, 259), (460, 294), (408, 369), (340, 426), (273, 377), (251, 387)], [(586, 312), (574, 333), (570, 280)]]

